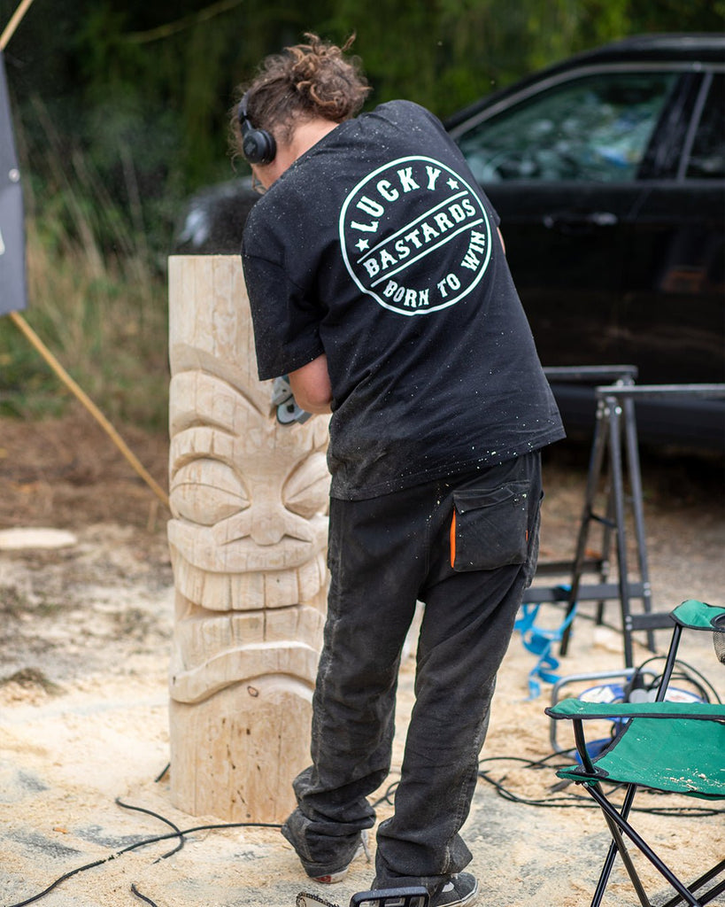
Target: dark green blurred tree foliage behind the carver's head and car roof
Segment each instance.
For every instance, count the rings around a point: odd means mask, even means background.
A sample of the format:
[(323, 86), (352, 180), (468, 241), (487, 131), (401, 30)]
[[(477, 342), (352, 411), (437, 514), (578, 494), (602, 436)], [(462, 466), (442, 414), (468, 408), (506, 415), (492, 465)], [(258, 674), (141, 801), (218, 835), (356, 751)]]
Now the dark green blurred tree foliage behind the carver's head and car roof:
[[(16, 3), (0, 0), (0, 27)], [(596, 44), (723, 24), (725, 0), (34, 0), (5, 64), (19, 144), (43, 188), (58, 188), (80, 153), (112, 199), (163, 233), (180, 198), (232, 175), (237, 83), (306, 31), (357, 35), (370, 104), (408, 97), (445, 117)]]

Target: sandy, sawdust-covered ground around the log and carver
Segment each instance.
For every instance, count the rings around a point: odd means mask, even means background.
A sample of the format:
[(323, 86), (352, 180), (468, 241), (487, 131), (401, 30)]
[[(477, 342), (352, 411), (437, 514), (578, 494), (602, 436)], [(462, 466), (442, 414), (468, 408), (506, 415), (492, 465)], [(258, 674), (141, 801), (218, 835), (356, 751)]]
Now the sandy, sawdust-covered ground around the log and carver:
[[(176, 810), (164, 774), (173, 619), (168, 513), (82, 414), (48, 424), (0, 420), (0, 433), (0, 907), (293, 907), (303, 891), (345, 907), (353, 892), (369, 887), (372, 866), (360, 858), (343, 883), (316, 885), (274, 828), (207, 828), (186, 834), (180, 850), (178, 840), (168, 838), (121, 854), (169, 834), (169, 824), (220, 825), (214, 816)], [(165, 439), (125, 436), (165, 483)], [(545, 477), (542, 561), (573, 550), (584, 471), (563, 452), (548, 459)], [(690, 597), (725, 604), (720, 467), (675, 460), (656, 463), (650, 475), (644, 463), (643, 478), (655, 607), (667, 610)], [(62, 547), (17, 548), (17, 537), (2, 532), (32, 527), (71, 535)], [(611, 626), (596, 627), (589, 616), (583, 610), (575, 622), (559, 668), (563, 675), (623, 666), (621, 635), (612, 629), (616, 602), (605, 611)], [(552, 606), (544, 610), (547, 626), (556, 627), (559, 619)], [(658, 631), (659, 649), (665, 641)], [(635, 646), (635, 663), (650, 655)], [(725, 671), (709, 639), (697, 634), (682, 658), (725, 697)], [(552, 791), (555, 766), (567, 759), (552, 757), (543, 711), (550, 688), (528, 698), (533, 664), (516, 634), (481, 763), (510, 796), (481, 778), (465, 829), (486, 907), (588, 904), (607, 844), (601, 816), (576, 798), (574, 787)], [(391, 783), (400, 766), (412, 681), (409, 658), (401, 670)], [(572, 685), (567, 692), (591, 685)], [(568, 746), (558, 728), (556, 743)], [(520, 761), (542, 759), (538, 767)], [(377, 795), (381, 819), (391, 811), (385, 795), (384, 788)], [(643, 796), (642, 803), (659, 807), (662, 799)], [(667, 805), (697, 802), (668, 797)], [(686, 877), (725, 853), (722, 812), (643, 812), (637, 823)], [(65, 873), (74, 874), (39, 896)], [(665, 886), (647, 876), (653, 902), (662, 902)], [(604, 904), (634, 903), (617, 868)]]

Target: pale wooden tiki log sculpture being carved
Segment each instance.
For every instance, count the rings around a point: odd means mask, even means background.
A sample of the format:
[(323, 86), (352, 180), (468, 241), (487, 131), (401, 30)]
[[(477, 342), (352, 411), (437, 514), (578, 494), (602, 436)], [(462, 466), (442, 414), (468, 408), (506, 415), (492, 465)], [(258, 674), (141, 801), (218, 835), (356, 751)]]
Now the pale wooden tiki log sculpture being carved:
[(170, 258), (169, 315), (171, 797), (276, 823), (309, 762), (328, 420), (277, 422), (237, 256)]

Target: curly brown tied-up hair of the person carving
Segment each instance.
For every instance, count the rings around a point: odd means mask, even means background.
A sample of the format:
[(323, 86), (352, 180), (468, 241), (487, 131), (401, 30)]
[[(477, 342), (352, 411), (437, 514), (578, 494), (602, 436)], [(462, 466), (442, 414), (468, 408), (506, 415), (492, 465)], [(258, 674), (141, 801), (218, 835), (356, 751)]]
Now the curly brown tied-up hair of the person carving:
[[(370, 91), (358, 57), (345, 57), (353, 34), (338, 47), (316, 34), (304, 34), (307, 44), (285, 47), (270, 54), (259, 66), (256, 78), (237, 89), (247, 95), (247, 115), (256, 129), (265, 129), (289, 141), (301, 120), (322, 117), (331, 122), (349, 120), (362, 109)], [(241, 149), (238, 103), (231, 112), (234, 144)]]

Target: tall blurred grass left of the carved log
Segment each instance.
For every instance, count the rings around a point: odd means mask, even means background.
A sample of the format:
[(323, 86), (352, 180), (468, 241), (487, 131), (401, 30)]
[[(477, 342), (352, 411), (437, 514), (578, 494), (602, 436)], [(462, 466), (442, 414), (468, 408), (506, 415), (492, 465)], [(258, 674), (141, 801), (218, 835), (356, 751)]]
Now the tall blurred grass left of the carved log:
[[(26, 219), (21, 314), (107, 418), (158, 431), (168, 419), (166, 280), (125, 227), (120, 253), (102, 249), (84, 213), (98, 211), (92, 201), (73, 194), (58, 210), (56, 195), (53, 210)], [(123, 224), (118, 212), (106, 221)], [(13, 320), (0, 318), (0, 415), (59, 416), (73, 399)]]

